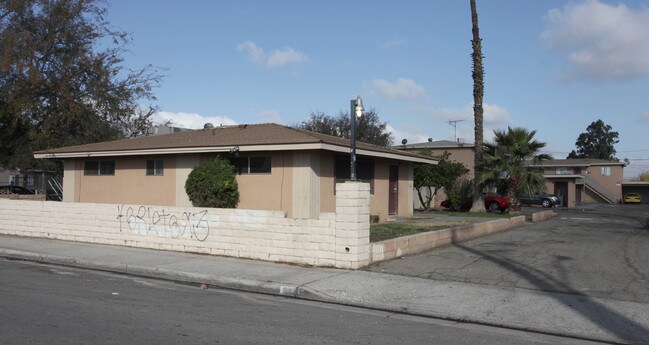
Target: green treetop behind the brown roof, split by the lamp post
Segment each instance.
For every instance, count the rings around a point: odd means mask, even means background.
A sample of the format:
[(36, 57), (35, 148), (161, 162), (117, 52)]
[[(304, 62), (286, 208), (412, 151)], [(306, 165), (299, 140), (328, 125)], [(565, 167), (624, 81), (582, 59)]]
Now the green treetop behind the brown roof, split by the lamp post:
[[(356, 140), (378, 146), (391, 146), (394, 139), (387, 126), (387, 122), (381, 122), (379, 119), (378, 112), (370, 109), (356, 119)], [(348, 112), (340, 112), (335, 117), (321, 112), (311, 113), (308, 120), (295, 127), (345, 139), (351, 136), (351, 119)]]

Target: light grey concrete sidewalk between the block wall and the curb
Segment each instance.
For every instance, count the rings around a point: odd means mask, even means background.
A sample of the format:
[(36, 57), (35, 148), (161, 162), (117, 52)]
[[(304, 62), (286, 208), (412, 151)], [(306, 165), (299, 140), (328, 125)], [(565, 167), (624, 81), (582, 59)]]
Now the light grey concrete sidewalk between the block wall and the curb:
[(367, 271), (0, 236), (5, 258), (613, 343), (649, 343), (649, 305)]

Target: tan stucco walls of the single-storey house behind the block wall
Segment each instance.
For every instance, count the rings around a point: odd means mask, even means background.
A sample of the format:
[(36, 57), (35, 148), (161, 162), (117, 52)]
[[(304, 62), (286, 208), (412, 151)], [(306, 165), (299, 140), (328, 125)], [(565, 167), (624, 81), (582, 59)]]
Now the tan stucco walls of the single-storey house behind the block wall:
[[(242, 154), (267, 155), (267, 152)], [(319, 213), (335, 212), (334, 153), (276, 152), (270, 156), (271, 173), (236, 176), (240, 194), (237, 208), (283, 211), (294, 218), (317, 218)], [(191, 202), (185, 193), (187, 176), (200, 162), (214, 157), (214, 154), (120, 157), (114, 159), (114, 176), (84, 176), (84, 159), (67, 159), (64, 198), (74, 202), (188, 207)], [(147, 159), (163, 159), (164, 176), (146, 176)], [(412, 216), (413, 165), (379, 158), (373, 161), (374, 193), (370, 198), (370, 213), (378, 215), (381, 221), (387, 220), (389, 169), (390, 165), (399, 165), (397, 214)]]

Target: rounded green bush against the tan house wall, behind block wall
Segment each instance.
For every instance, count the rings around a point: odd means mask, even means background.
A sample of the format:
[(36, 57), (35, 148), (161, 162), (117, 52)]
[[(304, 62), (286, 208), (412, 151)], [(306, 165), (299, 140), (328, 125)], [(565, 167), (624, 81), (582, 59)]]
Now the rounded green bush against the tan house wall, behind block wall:
[(197, 207), (235, 208), (239, 184), (234, 166), (221, 157), (195, 167), (185, 181), (185, 192)]

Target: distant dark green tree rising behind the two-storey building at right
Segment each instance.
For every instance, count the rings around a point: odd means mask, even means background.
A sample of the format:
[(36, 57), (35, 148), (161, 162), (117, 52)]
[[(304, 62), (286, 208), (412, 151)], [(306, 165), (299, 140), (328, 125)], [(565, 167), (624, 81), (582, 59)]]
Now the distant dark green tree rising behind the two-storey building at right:
[(576, 150), (568, 154), (568, 158), (591, 158), (618, 161), (615, 158), (614, 145), (620, 142), (619, 133), (602, 120), (594, 121), (586, 128), (585, 133), (579, 134), (575, 142)]

